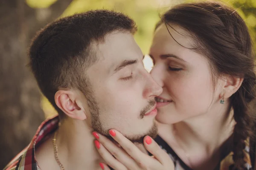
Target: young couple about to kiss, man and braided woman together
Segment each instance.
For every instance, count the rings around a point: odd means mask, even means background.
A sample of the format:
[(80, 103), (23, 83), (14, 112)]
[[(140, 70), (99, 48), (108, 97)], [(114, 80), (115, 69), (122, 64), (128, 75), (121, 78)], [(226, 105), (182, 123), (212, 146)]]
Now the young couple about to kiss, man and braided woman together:
[(183, 3), (161, 17), (143, 67), (134, 21), (88, 11), (42, 29), (29, 49), (58, 116), (6, 170), (253, 170), (253, 45), (239, 14)]

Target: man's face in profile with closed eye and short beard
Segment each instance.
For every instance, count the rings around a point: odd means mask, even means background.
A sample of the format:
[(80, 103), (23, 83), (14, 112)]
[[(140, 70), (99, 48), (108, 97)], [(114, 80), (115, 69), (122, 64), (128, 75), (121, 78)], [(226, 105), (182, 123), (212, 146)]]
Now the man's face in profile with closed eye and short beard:
[(108, 34), (94, 48), (98, 61), (87, 70), (93, 90), (93, 98), (88, 99), (94, 104), (90, 109), (93, 129), (108, 136), (113, 128), (133, 142), (145, 135), (154, 137), (154, 97), (162, 88), (143, 67), (143, 54), (132, 34)]

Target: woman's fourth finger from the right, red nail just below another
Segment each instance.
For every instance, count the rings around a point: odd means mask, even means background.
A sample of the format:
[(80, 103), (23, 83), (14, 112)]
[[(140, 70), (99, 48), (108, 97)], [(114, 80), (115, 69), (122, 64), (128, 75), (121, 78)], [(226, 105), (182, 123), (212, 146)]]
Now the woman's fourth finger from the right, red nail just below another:
[(116, 160), (108, 150), (99, 143), (98, 140), (94, 141), (94, 144), (99, 152), (99, 155), (106, 161), (106, 163), (115, 170), (128, 170), (122, 163)]

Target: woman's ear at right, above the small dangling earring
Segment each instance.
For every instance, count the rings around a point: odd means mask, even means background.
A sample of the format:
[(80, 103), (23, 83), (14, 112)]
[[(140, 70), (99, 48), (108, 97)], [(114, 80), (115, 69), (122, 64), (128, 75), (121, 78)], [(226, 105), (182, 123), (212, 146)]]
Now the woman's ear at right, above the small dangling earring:
[(242, 82), (244, 81), (244, 78), (239, 77), (225, 77), (225, 83), (224, 83), (224, 97), (229, 98), (232, 96), (238, 89), (240, 88)]

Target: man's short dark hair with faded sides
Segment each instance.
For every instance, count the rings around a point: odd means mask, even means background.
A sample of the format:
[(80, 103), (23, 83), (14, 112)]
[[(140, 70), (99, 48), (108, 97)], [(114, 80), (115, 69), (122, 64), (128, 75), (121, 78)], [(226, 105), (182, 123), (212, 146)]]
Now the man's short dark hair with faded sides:
[(63, 112), (54, 99), (59, 88), (90, 90), (85, 71), (97, 61), (92, 42), (104, 42), (113, 31), (134, 34), (136, 30), (134, 20), (125, 14), (94, 10), (61, 18), (38, 32), (29, 48), (29, 66), (60, 116)]

